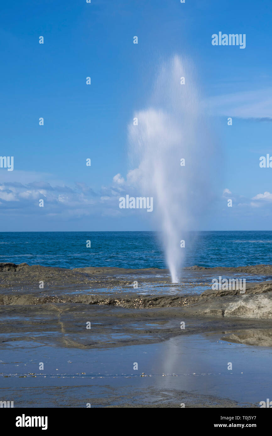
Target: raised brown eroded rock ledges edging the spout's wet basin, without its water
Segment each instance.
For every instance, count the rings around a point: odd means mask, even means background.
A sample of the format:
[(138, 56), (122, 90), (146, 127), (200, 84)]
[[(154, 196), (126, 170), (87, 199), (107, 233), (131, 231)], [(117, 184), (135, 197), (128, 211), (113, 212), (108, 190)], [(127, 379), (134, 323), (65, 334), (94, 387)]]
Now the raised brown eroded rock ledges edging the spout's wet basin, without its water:
[[(203, 267), (193, 266), (188, 269), (199, 269)], [(203, 268), (207, 270), (207, 268)], [(256, 274), (272, 274), (271, 265), (257, 265), (238, 267), (233, 269), (213, 269), (219, 271), (237, 271)], [(89, 283), (91, 279), (103, 279), (110, 282), (116, 280), (114, 274), (117, 272), (126, 272), (135, 276), (139, 271), (150, 272), (154, 274), (156, 269), (146, 270), (124, 270), (116, 268), (80, 268), (80, 269), (62, 269), (50, 268), (39, 265), (28, 266), (27, 264), (16, 265), (13, 263), (0, 263), (0, 280), (1, 286), (10, 286), (10, 282), (18, 281), (21, 286), (20, 294), (12, 292), (0, 296), (0, 305), (41, 305), (41, 304), (61, 304), (61, 303), (81, 303), (117, 306), (130, 309), (155, 309), (162, 307), (180, 307), (181, 313), (185, 316), (196, 317), (235, 317), (235, 318), (258, 318), (272, 319), (272, 281), (248, 283), (246, 292), (241, 294), (239, 290), (205, 290), (200, 296), (192, 295), (138, 295), (133, 291), (127, 292), (126, 295), (95, 295), (89, 293), (65, 294), (65, 286), (70, 283)], [(162, 270), (158, 270), (162, 271)], [(17, 275), (18, 274), (18, 275)], [(30, 294), (26, 291), (26, 283), (30, 283), (33, 278), (38, 279), (41, 274), (62, 283), (62, 290), (54, 292), (54, 295), (45, 295), (38, 292)], [(57, 288), (56, 288), (57, 289)], [(60, 289), (60, 288), (59, 288)]]

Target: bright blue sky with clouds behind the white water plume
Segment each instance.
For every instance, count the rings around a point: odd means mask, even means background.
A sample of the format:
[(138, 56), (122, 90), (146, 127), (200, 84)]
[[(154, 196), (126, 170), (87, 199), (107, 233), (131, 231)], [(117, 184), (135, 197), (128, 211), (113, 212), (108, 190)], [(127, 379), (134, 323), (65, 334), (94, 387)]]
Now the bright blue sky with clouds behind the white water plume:
[[(269, 0), (3, 1), (0, 155), (14, 170), (0, 168), (1, 230), (152, 228), (150, 214), (120, 214), (118, 181), (130, 169), (127, 125), (173, 54), (193, 61), (217, 138), (199, 229), (271, 230), (272, 168), (259, 167), (272, 155), (271, 21)], [(246, 48), (213, 46), (219, 31), (246, 34)]]

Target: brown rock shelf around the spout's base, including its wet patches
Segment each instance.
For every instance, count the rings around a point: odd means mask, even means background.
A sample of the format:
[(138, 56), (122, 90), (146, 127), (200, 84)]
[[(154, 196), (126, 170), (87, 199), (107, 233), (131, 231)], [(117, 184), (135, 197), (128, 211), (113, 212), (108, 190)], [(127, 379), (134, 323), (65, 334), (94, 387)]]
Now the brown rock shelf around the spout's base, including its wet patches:
[[(205, 270), (204, 267), (187, 268)], [(218, 274), (232, 269), (210, 268)], [(272, 266), (259, 265), (234, 268), (235, 271), (260, 272), (270, 274)], [(180, 307), (186, 316), (272, 318), (272, 281), (247, 283), (245, 293), (239, 289), (207, 289), (201, 295), (141, 295), (131, 286), (134, 279), (144, 275), (145, 283), (162, 283), (167, 286), (169, 278), (162, 277), (164, 270), (121, 268), (78, 268), (62, 269), (29, 266), (25, 263), (0, 264), (0, 305), (41, 305), (79, 303), (108, 305), (129, 309)], [(40, 283), (43, 287), (40, 288)], [(130, 286), (130, 288), (129, 288)], [(90, 292), (86, 292), (90, 287)], [(81, 288), (84, 289), (84, 293)], [(103, 293), (97, 294), (97, 288)], [(114, 293), (107, 290), (115, 289)], [(122, 289), (122, 292), (118, 290)], [(164, 287), (164, 290), (167, 288)]]

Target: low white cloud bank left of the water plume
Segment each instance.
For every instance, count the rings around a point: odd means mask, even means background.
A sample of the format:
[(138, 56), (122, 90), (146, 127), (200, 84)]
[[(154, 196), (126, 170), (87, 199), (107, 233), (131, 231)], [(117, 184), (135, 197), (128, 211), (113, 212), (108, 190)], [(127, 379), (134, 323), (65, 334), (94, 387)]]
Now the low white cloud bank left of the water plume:
[[(27, 175), (27, 173), (25, 173)], [(131, 172), (132, 174), (132, 172)], [(14, 174), (15, 175), (15, 174)], [(23, 174), (20, 173), (22, 176)], [(121, 174), (113, 177), (111, 186), (102, 186), (94, 192), (85, 183), (76, 182), (74, 186), (65, 186), (62, 181), (57, 184), (34, 178), (28, 174), (27, 183), (24, 177), (10, 178), (0, 185), (0, 214), (12, 210), (18, 216), (36, 215), (39, 211), (38, 200), (45, 200), (44, 213), (47, 217), (73, 218), (80, 216), (112, 216), (120, 215), (119, 198), (124, 190), (133, 195), (133, 186), (129, 185)]]

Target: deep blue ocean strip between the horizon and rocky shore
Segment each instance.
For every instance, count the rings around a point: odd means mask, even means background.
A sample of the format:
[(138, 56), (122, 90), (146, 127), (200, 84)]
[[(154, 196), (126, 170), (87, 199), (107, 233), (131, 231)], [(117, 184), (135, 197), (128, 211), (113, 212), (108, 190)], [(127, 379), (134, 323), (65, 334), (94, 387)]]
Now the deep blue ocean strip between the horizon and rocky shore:
[[(190, 232), (184, 266), (272, 263), (272, 231)], [(91, 247), (86, 248), (86, 241)], [(177, 241), (179, 244), (179, 241)], [(166, 268), (156, 232), (1, 232), (0, 262), (80, 268)]]

